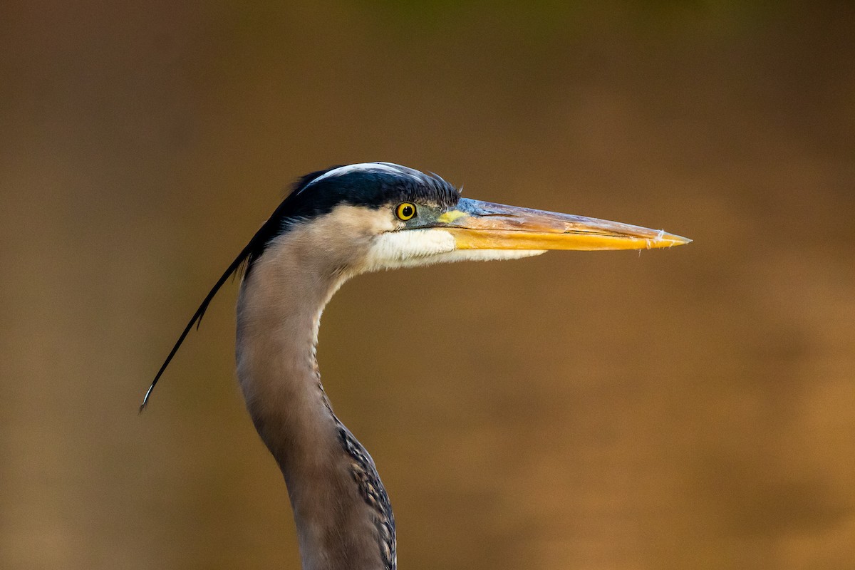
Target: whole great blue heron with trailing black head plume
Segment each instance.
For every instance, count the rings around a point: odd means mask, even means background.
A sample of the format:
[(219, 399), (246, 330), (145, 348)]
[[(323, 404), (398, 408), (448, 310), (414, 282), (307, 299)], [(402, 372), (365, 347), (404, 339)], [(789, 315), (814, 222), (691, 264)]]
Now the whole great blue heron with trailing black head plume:
[(279, 464), (304, 570), (394, 570), (395, 520), (368, 451), (321, 385), (321, 311), (359, 273), (545, 250), (642, 250), (687, 244), (661, 230), (480, 202), (435, 174), (389, 162), (300, 179), (204, 298), (143, 405), (211, 299), (245, 264), (237, 367), (246, 408)]

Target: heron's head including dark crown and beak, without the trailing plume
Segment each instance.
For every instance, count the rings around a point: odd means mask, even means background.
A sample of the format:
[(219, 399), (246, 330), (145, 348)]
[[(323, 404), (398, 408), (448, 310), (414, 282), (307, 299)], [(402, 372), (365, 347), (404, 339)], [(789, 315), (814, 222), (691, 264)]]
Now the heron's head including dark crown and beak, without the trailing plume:
[(287, 240), (348, 275), (546, 250), (645, 250), (691, 241), (663, 230), (463, 198), (435, 174), (389, 162), (309, 174), (265, 226), (250, 268), (268, 245)]

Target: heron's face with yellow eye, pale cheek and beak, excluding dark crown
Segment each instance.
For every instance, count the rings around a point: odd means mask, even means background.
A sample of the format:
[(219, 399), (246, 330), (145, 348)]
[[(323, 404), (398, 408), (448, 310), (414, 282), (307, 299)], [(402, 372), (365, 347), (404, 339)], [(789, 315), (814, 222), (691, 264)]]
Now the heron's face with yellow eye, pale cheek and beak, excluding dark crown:
[[(573, 214), (460, 198), (442, 205), (413, 197), (379, 208), (339, 205), (322, 231), (329, 255), (350, 274), (450, 261), (537, 256), (547, 250), (649, 250), (687, 244), (663, 230)], [(334, 236), (334, 237), (331, 237)]]

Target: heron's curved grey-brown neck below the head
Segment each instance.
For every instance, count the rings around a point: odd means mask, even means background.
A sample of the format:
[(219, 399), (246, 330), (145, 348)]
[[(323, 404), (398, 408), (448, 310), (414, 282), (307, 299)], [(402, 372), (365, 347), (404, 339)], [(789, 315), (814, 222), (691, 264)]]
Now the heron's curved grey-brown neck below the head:
[(311, 258), (274, 244), (244, 279), (240, 386), (285, 477), (304, 570), (393, 570), (386, 491), (368, 452), (333, 414), (315, 360), (321, 311), (343, 279)]

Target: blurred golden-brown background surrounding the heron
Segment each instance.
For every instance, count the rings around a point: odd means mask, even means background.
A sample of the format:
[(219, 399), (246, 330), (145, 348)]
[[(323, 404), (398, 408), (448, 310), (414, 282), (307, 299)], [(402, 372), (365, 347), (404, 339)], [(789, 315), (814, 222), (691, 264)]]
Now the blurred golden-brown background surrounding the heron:
[(233, 372), (298, 175), (384, 160), (675, 250), (360, 277), (339, 417), (416, 568), (855, 567), (852, 3), (0, 5), (0, 567), (298, 567)]

